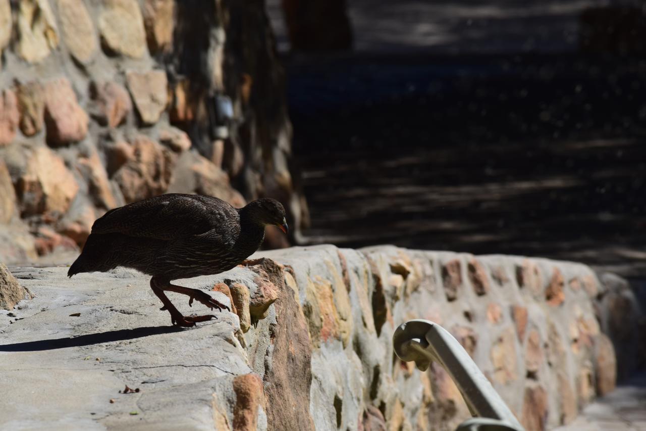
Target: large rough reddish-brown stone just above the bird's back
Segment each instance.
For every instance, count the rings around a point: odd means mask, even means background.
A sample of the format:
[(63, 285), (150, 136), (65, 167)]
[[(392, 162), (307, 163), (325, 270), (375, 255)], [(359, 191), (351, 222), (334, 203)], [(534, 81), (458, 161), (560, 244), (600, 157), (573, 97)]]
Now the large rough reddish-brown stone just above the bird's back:
[(113, 176), (125, 200), (130, 203), (166, 192), (174, 164), (169, 151), (143, 135), (134, 138), (132, 148), (133, 159)]

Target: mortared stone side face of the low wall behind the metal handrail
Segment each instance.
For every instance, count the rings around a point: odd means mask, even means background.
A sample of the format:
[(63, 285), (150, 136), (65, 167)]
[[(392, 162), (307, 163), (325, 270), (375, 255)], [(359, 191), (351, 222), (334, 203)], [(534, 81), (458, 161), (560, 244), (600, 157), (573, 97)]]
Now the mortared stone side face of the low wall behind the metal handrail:
[[(375, 429), (382, 420), (391, 430), (452, 430), (469, 416), (443, 369), (422, 373), (393, 355), (395, 327), (413, 318), (453, 333), (528, 430), (568, 423), (614, 388), (614, 348), (601, 327), (620, 318), (626, 335), (615, 340), (636, 352), (640, 311), (630, 289), (611, 292), (578, 263), (395, 247), (266, 256), (285, 265), (307, 322), (318, 430)], [(623, 311), (607, 305), (618, 298)]]

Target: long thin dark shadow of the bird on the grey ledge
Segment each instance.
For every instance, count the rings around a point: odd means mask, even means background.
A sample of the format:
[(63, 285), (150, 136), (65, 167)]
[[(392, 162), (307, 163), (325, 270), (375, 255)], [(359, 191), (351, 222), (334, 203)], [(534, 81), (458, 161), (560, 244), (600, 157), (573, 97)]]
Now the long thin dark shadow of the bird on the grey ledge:
[(79, 335), (78, 337), (73, 338), (50, 338), (48, 340), (1, 344), (0, 351), (43, 351), (65, 349), (112, 341), (132, 340), (132, 338), (148, 337), (149, 335), (180, 332), (184, 329), (185, 328), (179, 326), (143, 326), (136, 327), (134, 329), (119, 329), (118, 331), (105, 331), (94, 334)]

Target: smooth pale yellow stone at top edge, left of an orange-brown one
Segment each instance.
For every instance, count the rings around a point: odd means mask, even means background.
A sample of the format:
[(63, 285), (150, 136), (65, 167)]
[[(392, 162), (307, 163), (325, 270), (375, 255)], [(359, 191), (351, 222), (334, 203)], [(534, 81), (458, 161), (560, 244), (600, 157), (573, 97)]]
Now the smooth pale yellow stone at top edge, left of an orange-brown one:
[(136, 0), (107, 0), (99, 16), (99, 31), (104, 49), (132, 58), (146, 53), (143, 17)]

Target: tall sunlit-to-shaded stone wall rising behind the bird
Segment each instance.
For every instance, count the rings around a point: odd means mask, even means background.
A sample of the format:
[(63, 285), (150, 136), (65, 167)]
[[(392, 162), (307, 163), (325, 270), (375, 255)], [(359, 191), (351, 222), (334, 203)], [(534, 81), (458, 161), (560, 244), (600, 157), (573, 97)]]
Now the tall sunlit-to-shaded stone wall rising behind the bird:
[(276, 197), (300, 226), (262, 1), (0, 0), (0, 54), (0, 260), (164, 192)]

